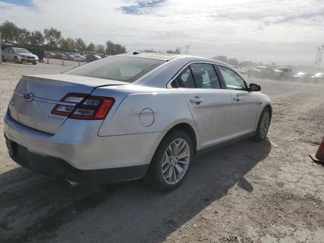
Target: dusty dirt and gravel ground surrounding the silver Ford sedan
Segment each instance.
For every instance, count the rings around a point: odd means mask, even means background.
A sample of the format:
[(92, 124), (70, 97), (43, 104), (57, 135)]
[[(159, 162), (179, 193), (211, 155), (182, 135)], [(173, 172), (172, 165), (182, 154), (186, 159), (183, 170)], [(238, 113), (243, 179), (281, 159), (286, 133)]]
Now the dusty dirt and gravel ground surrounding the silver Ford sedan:
[[(76, 62), (0, 66), (0, 133), (21, 74)], [(250, 78), (273, 102), (268, 138), (195, 159), (177, 190), (142, 181), (70, 187), (9, 157), (0, 138), (0, 242), (324, 242), (324, 167), (309, 153), (324, 135), (324, 84)]]

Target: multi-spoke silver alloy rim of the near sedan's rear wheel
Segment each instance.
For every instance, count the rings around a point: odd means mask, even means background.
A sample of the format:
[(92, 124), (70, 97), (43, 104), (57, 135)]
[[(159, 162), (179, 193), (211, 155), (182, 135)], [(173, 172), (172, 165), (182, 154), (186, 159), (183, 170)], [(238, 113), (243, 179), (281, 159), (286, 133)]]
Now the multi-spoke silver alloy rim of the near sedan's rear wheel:
[(190, 161), (190, 147), (186, 140), (174, 140), (164, 153), (161, 172), (169, 185), (178, 183), (186, 174)]

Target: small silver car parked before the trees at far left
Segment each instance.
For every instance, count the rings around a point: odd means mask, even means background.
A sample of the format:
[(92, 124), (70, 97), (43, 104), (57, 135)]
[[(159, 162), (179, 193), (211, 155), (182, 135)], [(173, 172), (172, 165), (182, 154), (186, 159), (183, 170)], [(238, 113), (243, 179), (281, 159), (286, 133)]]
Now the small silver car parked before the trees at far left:
[(31, 62), (36, 65), (38, 57), (26, 49), (17, 47), (8, 47), (2, 51), (2, 61), (13, 61), (15, 63)]

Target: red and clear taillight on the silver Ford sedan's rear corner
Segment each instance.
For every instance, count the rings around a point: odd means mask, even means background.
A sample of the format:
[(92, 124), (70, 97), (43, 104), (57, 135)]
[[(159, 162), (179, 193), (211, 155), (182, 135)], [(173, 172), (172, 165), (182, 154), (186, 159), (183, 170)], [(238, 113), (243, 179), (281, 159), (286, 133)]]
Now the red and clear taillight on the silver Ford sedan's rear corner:
[(52, 114), (68, 116), (72, 119), (100, 120), (108, 114), (115, 102), (114, 98), (69, 93), (61, 101), (77, 103), (76, 106), (57, 104)]

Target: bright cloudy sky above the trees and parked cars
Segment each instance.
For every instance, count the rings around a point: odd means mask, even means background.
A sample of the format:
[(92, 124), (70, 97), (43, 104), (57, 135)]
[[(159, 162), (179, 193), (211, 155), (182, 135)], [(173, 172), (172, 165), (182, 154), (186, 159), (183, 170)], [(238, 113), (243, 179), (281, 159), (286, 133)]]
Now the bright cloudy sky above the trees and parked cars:
[(128, 52), (188, 45), (190, 55), (264, 63), (312, 65), (324, 45), (324, 0), (0, 0), (5, 20)]

